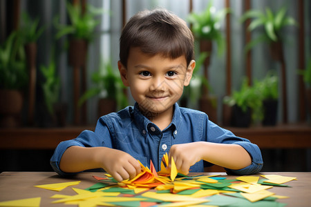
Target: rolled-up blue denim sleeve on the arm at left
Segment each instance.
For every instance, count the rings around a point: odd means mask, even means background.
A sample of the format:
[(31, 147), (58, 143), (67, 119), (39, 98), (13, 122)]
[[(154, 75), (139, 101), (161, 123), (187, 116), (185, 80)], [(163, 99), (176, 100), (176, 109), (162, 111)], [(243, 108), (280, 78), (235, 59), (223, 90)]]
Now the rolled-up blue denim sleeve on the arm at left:
[[(104, 138), (105, 139), (104, 139)], [(53, 157), (50, 159), (50, 165), (53, 170), (59, 175), (74, 175), (76, 173), (63, 172), (59, 168), (59, 162), (62, 159), (64, 152), (70, 146), (82, 146), (82, 147), (95, 147), (95, 146), (106, 146), (111, 148), (111, 139), (109, 138), (109, 130), (106, 125), (102, 124), (102, 121), (97, 121), (95, 132), (91, 130), (84, 130), (81, 134), (71, 140), (62, 141), (59, 143)]]

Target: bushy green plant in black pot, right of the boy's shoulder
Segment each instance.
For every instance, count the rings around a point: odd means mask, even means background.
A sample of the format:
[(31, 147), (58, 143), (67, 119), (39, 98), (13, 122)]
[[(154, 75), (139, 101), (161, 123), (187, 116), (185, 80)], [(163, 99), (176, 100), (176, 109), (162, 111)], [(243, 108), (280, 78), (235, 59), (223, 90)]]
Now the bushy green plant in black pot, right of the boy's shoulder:
[(248, 80), (243, 80), (240, 90), (235, 90), (231, 97), (225, 97), (224, 102), (232, 107), (232, 126), (249, 127), (253, 122), (263, 119), (263, 102), (260, 91), (248, 86)]

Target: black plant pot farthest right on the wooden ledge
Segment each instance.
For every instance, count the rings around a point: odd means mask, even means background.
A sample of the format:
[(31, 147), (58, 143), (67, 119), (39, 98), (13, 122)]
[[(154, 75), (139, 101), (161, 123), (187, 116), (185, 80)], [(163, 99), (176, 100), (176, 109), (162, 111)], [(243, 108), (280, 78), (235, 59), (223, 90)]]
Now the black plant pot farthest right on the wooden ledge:
[(275, 126), (278, 101), (275, 99), (263, 100), (263, 110), (263, 126)]

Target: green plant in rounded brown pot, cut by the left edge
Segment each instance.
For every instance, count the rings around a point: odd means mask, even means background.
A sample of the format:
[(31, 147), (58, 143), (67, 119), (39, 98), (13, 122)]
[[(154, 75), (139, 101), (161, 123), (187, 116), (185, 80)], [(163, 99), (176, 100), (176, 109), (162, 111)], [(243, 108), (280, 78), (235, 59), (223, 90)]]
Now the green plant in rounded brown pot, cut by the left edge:
[(13, 31), (0, 46), (0, 74), (0, 126), (16, 127), (23, 106), (21, 89), (28, 80), (19, 31)]

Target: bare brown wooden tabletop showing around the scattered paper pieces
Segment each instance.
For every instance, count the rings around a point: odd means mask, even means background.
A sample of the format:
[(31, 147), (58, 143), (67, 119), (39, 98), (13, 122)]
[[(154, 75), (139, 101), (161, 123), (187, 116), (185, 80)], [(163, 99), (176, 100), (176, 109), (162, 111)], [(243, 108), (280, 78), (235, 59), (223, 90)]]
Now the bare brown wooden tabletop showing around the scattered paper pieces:
[[(207, 172), (207, 175), (215, 174), (215, 172)], [(237, 176), (221, 174), (228, 179)], [(279, 199), (279, 202), (288, 204), (288, 206), (310, 206), (311, 204), (311, 172), (261, 172), (262, 175), (276, 174), (290, 177), (297, 177), (298, 180), (290, 181), (286, 184), (292, 186), (276, 187), (269, 191), (276, 195), (289, 196), (288, 199)], [(32, 197), (41, 197), (41, 206), (65, 206), (64, 204), (51, 204), (55, 199), (50, 197), (55, 194), (76, 195), (69, 186), (61, 192), (36, 188), (35, 185), (54, 184), (67, 181), (81, 181), (77, 188), (88, 188), (98, 181), (92, 177), (97, 175), (102, 177), (102, 172), (83, 172), (75, 177), (63, 178), (59, 177), (55, 172), (2, 172), (0, 174), (0, 201), (8, 201), (12, 199), (28, 199)], [(66, 205), (68, 206), (68, 205)]]

